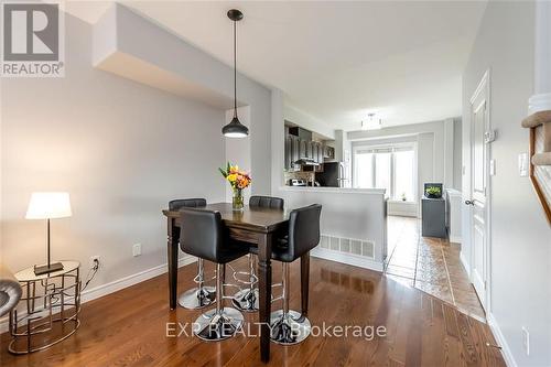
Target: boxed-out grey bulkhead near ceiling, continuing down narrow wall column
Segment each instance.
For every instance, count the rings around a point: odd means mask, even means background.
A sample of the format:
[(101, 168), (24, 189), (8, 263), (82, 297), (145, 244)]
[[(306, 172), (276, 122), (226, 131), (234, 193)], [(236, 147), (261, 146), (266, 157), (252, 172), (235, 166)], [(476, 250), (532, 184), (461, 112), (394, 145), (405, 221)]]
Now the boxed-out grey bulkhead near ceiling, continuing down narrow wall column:
[[(121, 4), (114, 4), (96, 24), (94, 42), (94, 63), (99, 68), (215, 105), (233, 99), (231, 66)], [(237, 85), (240, 106), (250, 107), (251, 193), (267, 194), (271, 190), (267, 163), (271, 161), (271, 90), (239, 73)]]

